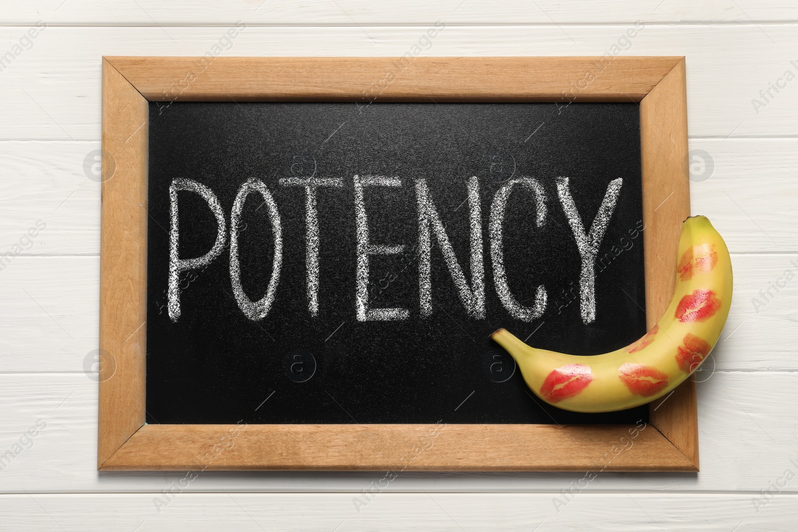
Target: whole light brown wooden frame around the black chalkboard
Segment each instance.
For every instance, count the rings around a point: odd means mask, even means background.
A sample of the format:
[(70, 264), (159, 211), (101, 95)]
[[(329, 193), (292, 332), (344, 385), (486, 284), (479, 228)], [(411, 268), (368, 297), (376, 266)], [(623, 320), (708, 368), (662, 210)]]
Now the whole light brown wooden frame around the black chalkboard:
[(100, 347), (114, 364), (101, 369), (101, 471), (698, 471), (692, 379), (621, 452), (634, 426), (144, 424), (148, 100), (639, 102), (650, 328), (689, 216), (684, 57), (104, 57), (102, 90)]

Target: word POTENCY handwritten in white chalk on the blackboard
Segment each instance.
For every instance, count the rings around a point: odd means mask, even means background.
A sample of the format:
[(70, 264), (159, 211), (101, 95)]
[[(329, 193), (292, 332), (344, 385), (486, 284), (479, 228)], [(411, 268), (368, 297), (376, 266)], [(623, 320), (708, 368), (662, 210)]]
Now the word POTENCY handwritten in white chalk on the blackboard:
[[(571, 197), (571, 189), (567, 177), (558, 177), (557, 195), (559, 203), (568, 219), (571, 231), (581, 258), (579, 278), (580, 312), (584, 323), (595, 321), (595, 261), (599, 252), (599, 245), (606, 233), (607, 225), (615, 208), (620, 194), (623, 180), (614, 179), (606, 188), (604, 198), (598, 213), (595, 215), (591, 227), (586, 229), (583, 217)], [(306, 294), (308, 311), (311, 316), (318, 315), (318, 250), (319, 226), (318, 208), (316, 200), (319, 189), (325, 187), (343, 187), (341, 178), (285, 178), (279, 180), (281, 187), (304, 188), (305, 194), (305, 223), (306, 223)], [(355, 275), (355, 313), (358, 321), (388, 321), (404, 320), (409, 317), (409, 309), (403, 308), (371, 308), (368, 298), (369, 283), (369, 257), (373, 255), (401, 254), (404, 245), (378, 245), (369, 238), (369, 221), (365, 210), (364, 189), (369, 187), (402, 187), (402, 180), (398, 177), (386, 176), (359, 176), (354, 175), (354, 211), (356, 229), (355, 261), (357, 265)], [(476, 177), (466, 180), (465, 189), (468, 195), (468, 222), (470, 227), (469, 266), (470, 280), (466, 277), (460, 261), (452, 248), (444, 223), (440, 219), (437, 208), (433, 203), (432, 195), (426, 179), (414, 179), (417, 198), (418, 213), (418, 287), (421, 302), (421, 315), (429, 316), (433, 312), (433, 286), (431, 275), (431, 258), (433, 237), (440, 246), (441, 254), (456, 286), (457, 295), (464, 305), (468, 315), (476, 319), (485, 317), (485, 282), (484, 282), (484, 234), (482, 225), (482, 211), (480, 207), (479, 183)], [(488, 241), (490, 259), (493, 267), (493, 281), (496, 293), (508, 310), (508, 313), (522, 321), (532, 321), (540, 317), (546, 309), (547, 292), (543, 285), (537, 287), (535, 301), (531, 306), (521, 305), (511, 293), (508, 286), (507, 274), (504, 268), (503, 224), (504, 211), (510, 200), (514, 188), (525, 188), (535, 198), (535, 227), (542, 227), (546, 223), (547, 200), (543, 186), (537, 179), (519, 177), (510, 179), (496, 191), (493, 196), (490, 213), (488, 214)], [(217, 223), (215, 242), (206, 254), (196, 258), (181, 258), (179, 249), (180, 220), (178, 219), (178, 192), (192, 191), (198, 194), (210, 207)], [(241, 269), (239, 264), (239, 227), (241, 212), (247, 196), (257, 193), (263, 197), (263, 204), (267, 207), (271, 229), (274, 234), (274, 258), (272, 262), (271, 278), (266, 294), (258, 301), (251, 301), (244, 294), (241, 285)], [(169, 230), (169, 272), (168, 272), (168, 313), (172, 321), (180, 319), (180, 274), (188, 270), (199, 269), (210, 264), (218, 258), (227, 247), (227, 224), (222, 207), (211, 189), (193, 179), (174, 179), (169, 186), (170, 199), (170, 230)], [(282, 222), (277, 203), (268, 187), (260, 179), (249, 179), (239, 188), (230, 213), (230, 281), (238, 302), (239, 309), (251, 320), (261, 320), (267, 316), (271, 305), (275, 301), (277, 286), (280, 282), (280, 269), (282, 267)]]

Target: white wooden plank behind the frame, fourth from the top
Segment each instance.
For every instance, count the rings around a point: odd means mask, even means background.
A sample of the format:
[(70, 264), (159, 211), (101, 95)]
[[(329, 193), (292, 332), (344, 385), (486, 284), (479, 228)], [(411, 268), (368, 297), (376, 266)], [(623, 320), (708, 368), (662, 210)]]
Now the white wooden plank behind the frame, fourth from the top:
[[(792, 262), (798, 255), (733, 256), (729, 321), (699, 380), (712, 371), (798, 371), (798, 282), (778, 293), (770, 287), (786, 270), (798, 273)], [(0, 373), (84, 372), (97, 349), (99, 271), (97, 256), (20, 256), (0, 272)], [(761, 290), (772, 297), (765, 301)]]

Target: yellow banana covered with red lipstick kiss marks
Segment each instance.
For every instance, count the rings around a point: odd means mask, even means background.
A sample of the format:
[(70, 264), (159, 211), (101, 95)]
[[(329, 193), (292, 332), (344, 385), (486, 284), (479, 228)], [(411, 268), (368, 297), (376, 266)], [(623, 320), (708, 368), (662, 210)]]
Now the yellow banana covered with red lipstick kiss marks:
[(581, 357), (535, 349), (505, 329), (491, 337), (516, 359), (536, 396), (572, 412), (614, 412), (665, 396), (701, 365), (732, 302), (729, 250), (705, 216), (681, 227), (674, 297), (645, 336), (611, 353)]

